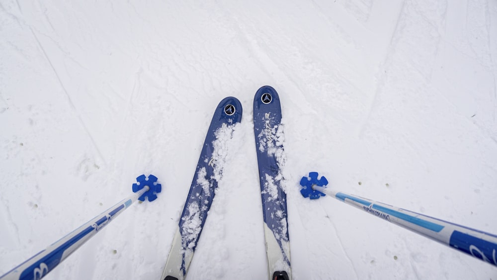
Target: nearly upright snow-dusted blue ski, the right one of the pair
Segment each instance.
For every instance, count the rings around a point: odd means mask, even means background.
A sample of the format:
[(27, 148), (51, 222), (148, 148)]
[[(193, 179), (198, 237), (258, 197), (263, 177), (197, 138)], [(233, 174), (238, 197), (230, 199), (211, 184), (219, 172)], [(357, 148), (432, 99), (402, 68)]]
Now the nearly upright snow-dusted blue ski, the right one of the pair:
[(280, 167), (284, 164), (283, 125), (278, 93), (261, 87), (253, 99), (253, 130), (259, 166), (260, 194), (268, 274), (271, 280), (290, 280), (286, 193)]

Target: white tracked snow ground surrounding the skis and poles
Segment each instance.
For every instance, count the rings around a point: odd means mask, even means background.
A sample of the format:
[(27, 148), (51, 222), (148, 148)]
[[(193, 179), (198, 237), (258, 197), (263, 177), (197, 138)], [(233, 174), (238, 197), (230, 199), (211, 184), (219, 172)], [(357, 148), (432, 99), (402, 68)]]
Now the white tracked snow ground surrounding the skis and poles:
[[(252, 100), (285, 120), (292, 274), (495, 279), (328, 187), (497, 233), (497, 2), (0, 0), (0, 274), (163, 186), (45, 279), (159, 279), (214, 108), (244, 106), (189, 279), (266, 279)], [(388, 185), (387, 185), (388, 184)], [(115, 250), (115, 251), (114, 251)]]

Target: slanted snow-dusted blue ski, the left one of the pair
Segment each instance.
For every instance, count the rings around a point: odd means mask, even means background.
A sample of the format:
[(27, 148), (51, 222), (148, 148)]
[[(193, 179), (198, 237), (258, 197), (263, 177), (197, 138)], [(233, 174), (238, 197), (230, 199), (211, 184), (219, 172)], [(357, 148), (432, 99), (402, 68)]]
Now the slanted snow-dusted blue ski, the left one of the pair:
[(214, 191), (222, 176), (227, 156), (223, 146), (231, 139), (233, 128), (241, 119), (242, 104), (237, 98), (221, 100), (207, 131), (161, 280), (183, 280), (188, 272)]

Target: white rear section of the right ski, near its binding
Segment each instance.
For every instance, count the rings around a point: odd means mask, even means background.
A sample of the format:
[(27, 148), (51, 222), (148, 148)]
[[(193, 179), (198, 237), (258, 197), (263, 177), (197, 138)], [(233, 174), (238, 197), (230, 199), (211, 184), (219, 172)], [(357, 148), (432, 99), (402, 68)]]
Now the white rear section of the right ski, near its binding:
[[(266, 240), (266, 252), (267, 252), (267, 264), (268, 264), (268, 274), (269, 279), (272, 278), (275, 271), (285, 271), (288, 274), (289, 279), (292, 279), (292, 272), (290, 266), (285, 262), (281, 249), (274, 237), (273, 232), (266, 223), (264, 223), (264, 237)], [(290, 244), (288, 242), (281, 242), (283, 251), (290, 260)]]

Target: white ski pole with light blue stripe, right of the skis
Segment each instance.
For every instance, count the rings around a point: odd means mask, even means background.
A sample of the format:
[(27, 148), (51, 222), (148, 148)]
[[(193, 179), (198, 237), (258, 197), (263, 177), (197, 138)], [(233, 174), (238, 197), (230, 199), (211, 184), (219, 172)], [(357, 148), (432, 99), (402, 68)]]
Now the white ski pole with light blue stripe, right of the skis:
[(325, 187), (328, 185), (328, 180), (325, 177), (321, 177), (318, 180), (317, 172), (309, 173), (309, 178), (303, 177), (300, 185), (304, 187), (301, 190), (304, 197), (316, 199), (319, 196), (323, 196), (323, 193), (329, 194), (340, 201), (374, 216), (497, 266), (497, 236), (494, 234), (450, 223), (357, 195), (333, 191)]

